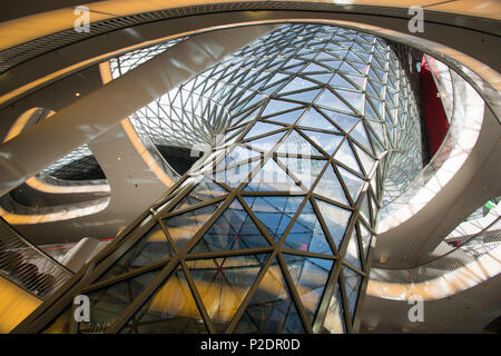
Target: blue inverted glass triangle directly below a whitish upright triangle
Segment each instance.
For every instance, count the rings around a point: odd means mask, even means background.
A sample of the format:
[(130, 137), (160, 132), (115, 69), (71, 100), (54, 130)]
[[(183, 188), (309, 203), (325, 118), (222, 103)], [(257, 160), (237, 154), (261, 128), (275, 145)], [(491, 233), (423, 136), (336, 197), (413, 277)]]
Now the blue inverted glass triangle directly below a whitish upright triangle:
[(244, 200), (277, 243), (304, 197), (244, 197)]

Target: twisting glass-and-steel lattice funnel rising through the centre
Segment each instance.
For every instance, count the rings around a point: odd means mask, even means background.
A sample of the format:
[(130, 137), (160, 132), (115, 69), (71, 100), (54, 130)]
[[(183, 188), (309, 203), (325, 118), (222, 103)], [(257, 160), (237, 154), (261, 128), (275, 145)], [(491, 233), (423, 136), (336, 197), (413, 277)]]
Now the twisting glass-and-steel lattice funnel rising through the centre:
[(204, 157), (33, 330), (356, 332), (385, 170), (421, 169), (409, 87), (384, 40), (287, 24), (161, 96), (136, 127)]

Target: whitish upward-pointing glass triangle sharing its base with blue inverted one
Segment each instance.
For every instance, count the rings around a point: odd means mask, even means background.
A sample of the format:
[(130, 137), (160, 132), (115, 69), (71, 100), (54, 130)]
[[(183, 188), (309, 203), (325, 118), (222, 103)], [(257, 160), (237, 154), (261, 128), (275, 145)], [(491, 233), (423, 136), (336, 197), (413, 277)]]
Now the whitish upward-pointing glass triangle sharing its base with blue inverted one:
[(254, 191), (303, 191), (274, 160), (269, 158), (250, 179), (244, 190)]

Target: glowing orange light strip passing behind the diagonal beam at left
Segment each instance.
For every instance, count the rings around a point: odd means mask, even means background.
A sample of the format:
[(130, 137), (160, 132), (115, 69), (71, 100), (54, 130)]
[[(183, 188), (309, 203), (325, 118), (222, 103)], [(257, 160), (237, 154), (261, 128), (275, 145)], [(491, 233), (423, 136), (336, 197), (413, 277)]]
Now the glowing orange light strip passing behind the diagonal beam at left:
[[(101, 73), (102, 83), (106, 85), (112, 80), (111, 67), (109, 65), (109, 61), (99, 63), (99, 71)], [(128, 118), (124, 119), (120, 121), (120, 125), (124, 131), (126, 132), (127, 137), (129, 138), (130, 142), (132, 144), (134, 148), (143, 158), (148, 168), (151, 169), (155, 176), (157, 176), (157, 178), (166, 187), (170, 188), (175, 184), (175, 181), (164, 171), (164, 169), (157, 164), (155, 158), (149, 154), (145, 145), (143, 145), (130, 120)]]

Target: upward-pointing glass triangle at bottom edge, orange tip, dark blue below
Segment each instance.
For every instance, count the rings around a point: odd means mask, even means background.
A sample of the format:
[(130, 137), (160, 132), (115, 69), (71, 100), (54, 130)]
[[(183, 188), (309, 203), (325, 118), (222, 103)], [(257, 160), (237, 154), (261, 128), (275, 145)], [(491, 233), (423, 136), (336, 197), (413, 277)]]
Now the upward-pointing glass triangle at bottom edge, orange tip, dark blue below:
[(303, 323), (276, 260), (261, 280), (238, 322), (236, 334), (302, 334)]

